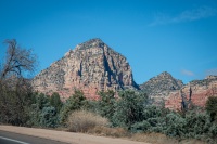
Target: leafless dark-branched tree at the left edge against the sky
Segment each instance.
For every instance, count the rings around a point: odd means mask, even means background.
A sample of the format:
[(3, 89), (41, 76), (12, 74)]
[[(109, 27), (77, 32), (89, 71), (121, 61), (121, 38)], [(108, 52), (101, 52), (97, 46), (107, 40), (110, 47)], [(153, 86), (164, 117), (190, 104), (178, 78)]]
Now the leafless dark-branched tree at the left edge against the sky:
[(23, 125), (27, 119), (27, 105), (31, 87), (26, 78), (37, 66), (31, 50), (22, 49), (16, 40), (5, 40), (7, 55), (0, 69), (0, 122)]

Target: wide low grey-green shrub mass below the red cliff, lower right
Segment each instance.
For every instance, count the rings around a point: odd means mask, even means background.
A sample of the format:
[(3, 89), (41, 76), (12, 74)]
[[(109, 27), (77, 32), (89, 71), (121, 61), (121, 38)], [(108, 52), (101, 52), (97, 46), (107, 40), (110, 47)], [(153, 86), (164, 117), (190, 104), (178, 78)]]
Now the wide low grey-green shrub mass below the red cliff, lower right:
[(217, 139), (217, 125), (206, 112), (189, 110), (186, 115), (146, 105), (143, 121), (131, 125), (131, 132), (159, 132), (177, 139), (200, 139), (213, 143)]

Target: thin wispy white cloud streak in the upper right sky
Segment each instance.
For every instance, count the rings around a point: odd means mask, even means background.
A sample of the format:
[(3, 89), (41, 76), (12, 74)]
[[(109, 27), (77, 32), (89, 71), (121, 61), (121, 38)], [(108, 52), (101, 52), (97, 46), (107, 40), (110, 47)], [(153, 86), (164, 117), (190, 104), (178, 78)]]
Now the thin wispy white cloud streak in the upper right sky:
[(177, 16), (169, 16), (164, 13), (158, 13), (155, 16), (155, 19), (150, 24), (150, 26), (192, 22), (215, 15), (217, 15), (217, 10), (209, 6), (201, 6), (199, 9), (187, 10), (181, 12)]

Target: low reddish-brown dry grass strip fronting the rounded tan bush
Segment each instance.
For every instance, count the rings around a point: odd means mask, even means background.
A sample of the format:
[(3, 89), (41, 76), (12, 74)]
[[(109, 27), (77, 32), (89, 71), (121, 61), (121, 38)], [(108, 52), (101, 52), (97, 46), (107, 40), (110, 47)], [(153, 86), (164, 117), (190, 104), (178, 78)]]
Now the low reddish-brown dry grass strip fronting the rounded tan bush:
[(129, 133), (123, 128), (108, 128), (103, 126), (97, 126), (93, 129), (89, 129), (88, 133), (113, 138), (125, 138), (129, 135)]

